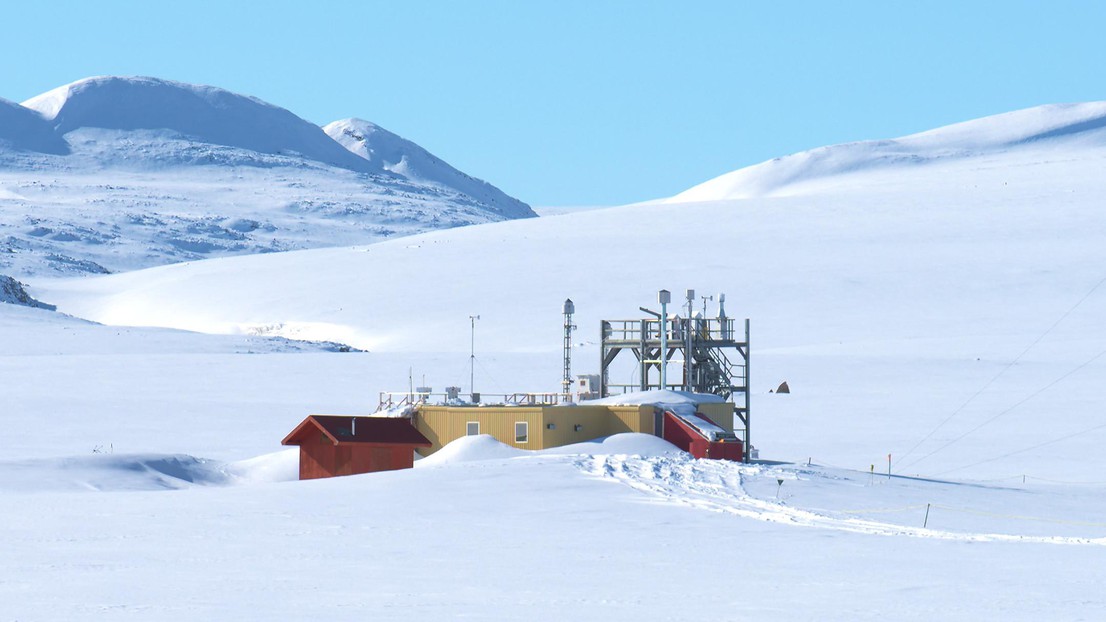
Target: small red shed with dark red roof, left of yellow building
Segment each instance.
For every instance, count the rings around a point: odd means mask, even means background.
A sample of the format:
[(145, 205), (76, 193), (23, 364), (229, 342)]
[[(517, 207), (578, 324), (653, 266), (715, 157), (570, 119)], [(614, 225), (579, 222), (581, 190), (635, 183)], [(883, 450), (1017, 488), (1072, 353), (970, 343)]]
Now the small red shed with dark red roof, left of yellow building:
[(300, 446), (300, 479), (411, 468), (430, 440), (396, 417), (311, 415), (281, 445)]

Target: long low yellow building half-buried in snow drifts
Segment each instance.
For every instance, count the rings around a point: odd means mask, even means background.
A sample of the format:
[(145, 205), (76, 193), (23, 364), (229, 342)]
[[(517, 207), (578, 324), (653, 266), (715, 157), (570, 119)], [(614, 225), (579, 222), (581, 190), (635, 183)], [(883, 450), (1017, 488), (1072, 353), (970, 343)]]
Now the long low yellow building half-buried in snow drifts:
[[(733, 404), (699, 404), (697, 411), (733, 432)], [(462, 437), (488, 434), (520, 449), (547, 449), (625, 432), (660, 436), (664, 411), (651, 405), (442, 406), (420, 404), (411, 419), (431, 446), (430, 455)]]

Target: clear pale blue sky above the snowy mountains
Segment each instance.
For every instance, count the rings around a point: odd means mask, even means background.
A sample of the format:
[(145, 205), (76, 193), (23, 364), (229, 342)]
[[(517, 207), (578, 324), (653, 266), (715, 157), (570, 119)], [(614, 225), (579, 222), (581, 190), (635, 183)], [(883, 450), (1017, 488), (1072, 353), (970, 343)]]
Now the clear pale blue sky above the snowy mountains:
[(90, 75), (358, 116), (535, 206), (1106, 100), (1106, 2), (20, 2), (0, 96)]

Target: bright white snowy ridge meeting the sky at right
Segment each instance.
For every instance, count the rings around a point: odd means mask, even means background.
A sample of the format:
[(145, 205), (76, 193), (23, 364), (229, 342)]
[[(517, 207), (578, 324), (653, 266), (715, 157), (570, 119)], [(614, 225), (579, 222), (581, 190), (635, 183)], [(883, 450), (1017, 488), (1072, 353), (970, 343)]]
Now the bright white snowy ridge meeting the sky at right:
[(1106, 147), (1106, 102), (1053, 104), (968, 121), (890, 141), (820, 147), (734, 170), (667, 203), (786, 196), (816, 191), (808, 183), (863, 187), (852, 174), (977, 158), (1009, 151)]

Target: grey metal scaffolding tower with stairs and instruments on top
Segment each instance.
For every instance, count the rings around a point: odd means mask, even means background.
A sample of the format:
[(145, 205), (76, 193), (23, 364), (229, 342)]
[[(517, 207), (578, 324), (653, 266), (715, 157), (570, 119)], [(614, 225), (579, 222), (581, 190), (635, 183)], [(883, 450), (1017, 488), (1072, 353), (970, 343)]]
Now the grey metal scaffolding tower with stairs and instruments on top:
[[(641, 308), (651, 318), (637, 320), (602, 320), (599, 349), (599, 396), (630, 391), (667, 388), (692, 393), (712, 393), (733, 401), (733, 414), (744, 428), (745, 455), (750, 444), (749, 396), (749, 320), (743, 334), (737, 332), (731, 318), (726, 317), (726, 294), (719, 297), (717, 318), (696, 313), (690, 318), (666, 318), (667, 291), (660, 294), (665, 313)], [(687, 310), (691, 311), (695, 291), (687, 292)], [(623, 351), (634, 355), (632, 375), (636, 382), (612, 382), (611, 372)], [(623, 357), (625, 359), (625, 357)], [(668, 361), (682, 359), (679, 377), (665, 373)], [(625, 366), (624, 366), (625, 371)], [(674, 370), (675, 371), (675, 370)]]

